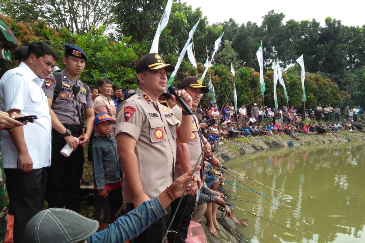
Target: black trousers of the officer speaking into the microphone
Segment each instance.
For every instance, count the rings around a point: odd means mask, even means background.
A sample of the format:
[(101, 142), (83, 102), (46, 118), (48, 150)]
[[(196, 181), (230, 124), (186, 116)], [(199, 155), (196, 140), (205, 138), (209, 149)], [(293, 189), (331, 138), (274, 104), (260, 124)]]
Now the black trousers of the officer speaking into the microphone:
[[(133, 203), (127, 203), (126, 213), (134, 209)], [(146, 228), (136, 238), (130, 240), (131, 243), (161, 243), (168, 227), (171, 206), (166, 208), (167, 214), (153, 222), (150, 227)]]

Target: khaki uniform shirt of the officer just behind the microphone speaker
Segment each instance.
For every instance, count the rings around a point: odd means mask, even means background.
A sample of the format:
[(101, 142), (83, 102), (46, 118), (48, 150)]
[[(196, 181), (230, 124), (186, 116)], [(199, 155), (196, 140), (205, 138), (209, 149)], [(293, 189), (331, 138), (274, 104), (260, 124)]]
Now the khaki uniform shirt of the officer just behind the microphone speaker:
[[(172, 108), (172, 111), (174, 112), (176, 117), (179, 120), (181, 120), (181, 118), (183, 117), (183, 114), (181, 113), (183, 109), (181, 109), (178, 105), (176, 105)], [(194, 168), (196, 162), (199, 160), (200, 162), (198, 162), (198, 165), (200, 165), (201, 168), (203, 168), (204, 154), (202, 154), (202, 151), (204, 148), (203, 147), (204, 142), (201, 140), (201, 137), (199, 135), (199, 133), (201, 134), (201, 130), (199, 127), (199, 120), (195, 115), (191, 116), (191, 127), (192, 127), (191, 137), (190, 141), (187, 143), (190, 153), (190, 165), (191, 168)], [(183, 169), (181, 169), (181, 166), (177, 159), (175, 164), (175, 179), (183, 174), (184, 174)], [(201, 180), (201, 175), (199, 171), (195, 172), (194, 174), (198, 177), (198, 180)]]

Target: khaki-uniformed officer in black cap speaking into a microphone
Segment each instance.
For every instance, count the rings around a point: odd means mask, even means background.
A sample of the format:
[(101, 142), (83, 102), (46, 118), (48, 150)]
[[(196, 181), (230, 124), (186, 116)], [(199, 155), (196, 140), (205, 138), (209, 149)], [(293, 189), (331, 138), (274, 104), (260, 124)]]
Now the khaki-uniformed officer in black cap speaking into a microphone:
[[(174, 67), (165, 64), (161, 56), (150, 53), (137, 63), (137, 94), (118, 107), (116, 140), (123, 166), (123, 193), (130, 211), (143, 201), (164, 191), (174, 180), (176, 142), (188, 142), (191, 136), (191, 117), (184, 113), (179, 121), (172, 111), (158, 102), (167, 85), (166, 72)], [(178, 91), (189, 107), (191, 97), (185, 90)], [(175, 99), (175, 98), (173, 98)], [(161, 243), (168, 214), (143, 231), (133, 242)]]

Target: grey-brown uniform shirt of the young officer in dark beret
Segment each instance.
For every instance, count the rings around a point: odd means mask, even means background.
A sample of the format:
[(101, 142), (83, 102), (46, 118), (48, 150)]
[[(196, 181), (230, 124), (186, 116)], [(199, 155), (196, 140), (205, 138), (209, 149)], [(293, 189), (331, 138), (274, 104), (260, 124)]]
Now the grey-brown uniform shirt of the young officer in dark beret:
[[(76, 105), (82, 108), (93, 108), (93, 102), (91, 98), (91, 91), (89, 90), (88, 96), (86, 96), (86, 89), (80, 78), (77, 78), (76, 85), (80, 86), (80, 92), (74, 97), (72, 93), (73, 84), (70, 83), (70, 79), (67, 77), (65, 70), (61, 71), (62, 85), (56, 100), (52, 103), (52, 110), (57, 115), (58, 120), (62, 124), (68, 124), (78, 126), (80, 119), (78, 118)], [(53, 74), (50, 74), (45, 78), (45, 82), (42, 85), (42, 89), (48, 98), (53, 99), (54, 88), (56, 80)]]

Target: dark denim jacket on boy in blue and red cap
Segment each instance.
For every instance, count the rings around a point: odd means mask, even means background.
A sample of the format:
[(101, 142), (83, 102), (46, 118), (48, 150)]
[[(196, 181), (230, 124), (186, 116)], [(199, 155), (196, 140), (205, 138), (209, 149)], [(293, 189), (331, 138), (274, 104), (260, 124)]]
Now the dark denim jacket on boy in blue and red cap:
[(109, 136), (100, 136), (91, 143), (94, 185), (97, 190), (105, 184), (122, 180), (122, 169), (116, 150), (116, 140)]

